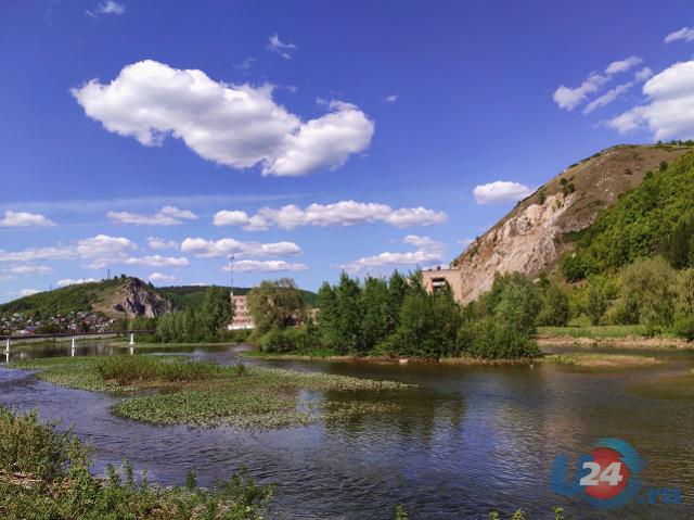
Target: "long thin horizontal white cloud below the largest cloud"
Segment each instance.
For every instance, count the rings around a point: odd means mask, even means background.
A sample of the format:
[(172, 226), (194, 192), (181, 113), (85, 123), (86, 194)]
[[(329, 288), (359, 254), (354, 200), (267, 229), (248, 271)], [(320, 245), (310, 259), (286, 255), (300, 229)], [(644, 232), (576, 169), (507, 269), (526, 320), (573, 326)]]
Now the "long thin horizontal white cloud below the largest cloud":
[(294, 229), (300, 226), (355, 226), (381, 221), (404, 228), (432, 226), (448, 220), (444, 212), (422, 206), (393, 208), (387, 204), (339, 201), (333, 204), (310, 204), (300, 208), (290, 204), (279, 208), (262, 207), (256, 215), (246, 212), (222, 211), (215, 215), (215, 226), (241, 226), (247, 231), (265, 230), (270, 226)]

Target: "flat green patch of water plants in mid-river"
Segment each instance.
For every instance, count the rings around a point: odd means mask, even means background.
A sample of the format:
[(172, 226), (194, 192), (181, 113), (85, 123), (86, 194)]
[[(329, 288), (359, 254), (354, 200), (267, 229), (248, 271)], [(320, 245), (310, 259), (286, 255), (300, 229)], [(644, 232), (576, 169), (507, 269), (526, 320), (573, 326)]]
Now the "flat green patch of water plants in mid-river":
[(350, 406), (333, 406), (310, 392), (352, 393), (352, 397), (357, 392), (369, 392), (373, 398), (374, 393), (411, 388), (393, 381), (243, 364), (221, 366), (183, 356), (61, 357), (16, 362), (9, 367), (40, 370), (39, 379), (63, 386), (125, 395), (114, 406), (114, 414), (155, 424), (301, 426), (339, 413), (351, 416), (390, 410), (361, 399), (354, 399)]

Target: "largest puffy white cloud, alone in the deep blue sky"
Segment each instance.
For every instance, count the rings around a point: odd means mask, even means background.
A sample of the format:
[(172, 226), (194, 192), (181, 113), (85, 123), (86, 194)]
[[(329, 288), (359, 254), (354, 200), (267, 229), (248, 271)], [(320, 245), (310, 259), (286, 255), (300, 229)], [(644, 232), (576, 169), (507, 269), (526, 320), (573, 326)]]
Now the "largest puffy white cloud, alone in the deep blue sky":
[(182, 139), (201, 157), (264, 175), (298, 176), (336, 168), (365, 150), (374, 124), (357, 106), (331, 102), (327, 114), (301, 122), (277, 104), (269, 85), (232, 86), (197, 69), (152, 60), (126, 66), (108, 85), (72, 89), (86, 114), (146, 147)]

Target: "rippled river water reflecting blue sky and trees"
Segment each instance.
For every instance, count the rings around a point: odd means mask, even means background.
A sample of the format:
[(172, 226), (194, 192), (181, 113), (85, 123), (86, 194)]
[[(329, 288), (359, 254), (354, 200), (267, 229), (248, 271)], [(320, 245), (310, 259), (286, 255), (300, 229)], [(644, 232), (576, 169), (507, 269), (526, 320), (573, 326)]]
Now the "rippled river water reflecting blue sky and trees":
[[(126, 352), (94, 343), (79, 345), (75, 355)], [(166, 352), (222, 364), (237, 359), (232, 347)], [(163, 484), (182, 484), (193, 469), (198, 482), (209, 485), (245, 466), (258, 481), (278, 484), (272, 509), (278, 519), (391, 520), (400, 503), (412, 520), (483, 519), (492, 508), (510, 515), (517, 507), (532, 519), (549, 519), (553, 505), (562, 505), (567, 519), (694, 518), (694, 398), (642, 389), (686, 375), (694, 353), (639, 354), (666, 363), (587, 371), (552, 364), (500, 368), (246, 362), (419, 386), (385, 397), (397, 402), (397, 413), (269, 432), (119, 419), (110, 411), (117, 402), (112, 396), (57, 388), (18, 370), (0, 370), (0, 404), (38, 408), (46, 419), (73, 424), (93, 444), (98, 472), (108, 462), (128, 459)], [(13, 354), (55, 355), (70, 355), (69, 345), (23, 347)], [(319, 398), (349, 397), (325, 393)], [(645, 485), (679, 487), (682, 504), (631, 504), (607, 511), (554, 494), (553, 456), (586, 452), (600, 437), (631, 443), (647, 461)]]

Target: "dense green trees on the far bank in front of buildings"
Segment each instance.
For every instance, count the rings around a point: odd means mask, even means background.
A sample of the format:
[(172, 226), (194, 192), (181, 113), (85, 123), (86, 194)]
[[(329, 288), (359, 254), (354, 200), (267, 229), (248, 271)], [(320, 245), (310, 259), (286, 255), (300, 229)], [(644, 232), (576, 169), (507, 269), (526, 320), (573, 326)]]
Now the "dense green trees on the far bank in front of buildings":
[[(316, 321), (301, 317), (300, 299), (287, 297), (294, 289), (286, 282), (258, 288), (264, 306), (253, 303), (254, 291), (248, 296), (254, 334), (269, 352), (327, 348), (356, 356), (523, 358), (539, 354), (532, 339), (539, 322), (568, 320), (564, 292), (547, 279), (534, 283), (519, 274), (497, 276), (489, 292), (463, 306), (448, 286), (428, 293), (420, 271), (363, 280), (343, 272), (336, 284), (321, 286)], [(282, 302), (292, 302), (280, 314), (293, 319), (278, 316)]]

